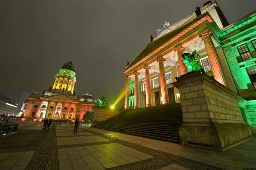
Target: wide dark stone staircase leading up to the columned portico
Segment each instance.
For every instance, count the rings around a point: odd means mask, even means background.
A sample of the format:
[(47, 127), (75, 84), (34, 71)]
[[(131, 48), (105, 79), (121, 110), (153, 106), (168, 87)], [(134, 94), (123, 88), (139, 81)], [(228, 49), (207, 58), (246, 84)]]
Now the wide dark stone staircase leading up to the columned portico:
[(180, 143), (180, 103), (132, 109), (119, 113), (96, 128)]

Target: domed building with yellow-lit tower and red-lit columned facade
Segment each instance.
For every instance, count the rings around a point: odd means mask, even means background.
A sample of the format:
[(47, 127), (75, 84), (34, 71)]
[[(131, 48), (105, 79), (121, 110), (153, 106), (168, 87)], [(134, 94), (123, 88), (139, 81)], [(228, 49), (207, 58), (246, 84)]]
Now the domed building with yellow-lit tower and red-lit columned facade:
[(25, 118), (73, 120), (81, 119), (87, 112), (93, 112), (98, 101), (90, 94), (79, 97), (75, 94), (76, 83), (75, 66), (70, 61), (65, 63), (57, 75), (53, 86), (42, 95), (33, 92), (24, 102), (22, 110)]

